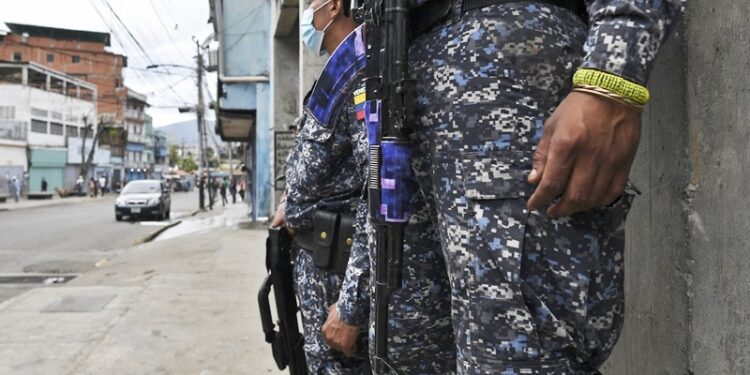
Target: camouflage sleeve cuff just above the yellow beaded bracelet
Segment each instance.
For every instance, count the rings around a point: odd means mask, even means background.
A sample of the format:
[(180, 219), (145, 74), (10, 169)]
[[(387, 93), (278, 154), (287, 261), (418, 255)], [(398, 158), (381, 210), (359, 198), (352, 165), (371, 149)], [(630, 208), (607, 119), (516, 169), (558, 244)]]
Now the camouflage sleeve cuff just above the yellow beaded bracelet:
[(645, 85), (687, 0), (587, 0), (589, 34), (582, 68)]

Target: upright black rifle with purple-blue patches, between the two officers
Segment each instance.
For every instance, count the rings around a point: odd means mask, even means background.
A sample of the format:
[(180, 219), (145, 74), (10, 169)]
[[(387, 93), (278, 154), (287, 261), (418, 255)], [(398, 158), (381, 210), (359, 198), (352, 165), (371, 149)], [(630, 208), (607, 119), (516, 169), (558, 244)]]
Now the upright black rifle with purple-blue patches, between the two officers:
[(398, 374), (388, 359), (388, 305), (401, 287), (404, 228), (414, 186), (411, 116), (407, 98), (413, 82), (407, 74), (407, 0), (367, 0), (364, 4), (367, 66), (365, 119), (369, 143), (367, 181), (370, 221), (375, 228), (376, 374)]

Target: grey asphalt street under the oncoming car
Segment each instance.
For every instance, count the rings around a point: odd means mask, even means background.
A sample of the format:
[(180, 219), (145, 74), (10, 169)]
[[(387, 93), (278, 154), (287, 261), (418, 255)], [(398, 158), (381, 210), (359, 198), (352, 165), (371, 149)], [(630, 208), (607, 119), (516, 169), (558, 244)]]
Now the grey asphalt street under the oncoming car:
[[(197, 192), (173, 193), (169, 221), (117, 222), (115, 198), (0, 212), (0, 277), (83, 273), (198, 207)], [(35, 286), (0, 282), (0, 302)]]

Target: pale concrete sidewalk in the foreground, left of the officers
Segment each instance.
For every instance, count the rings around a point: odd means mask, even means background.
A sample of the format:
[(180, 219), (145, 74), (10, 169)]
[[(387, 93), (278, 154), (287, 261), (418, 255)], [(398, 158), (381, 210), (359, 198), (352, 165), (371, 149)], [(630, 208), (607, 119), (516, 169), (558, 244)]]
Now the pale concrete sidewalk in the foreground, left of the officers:
[(0, 374), (282, 373), (257, 307), (266, 233), (244, 211), (0, 304)]

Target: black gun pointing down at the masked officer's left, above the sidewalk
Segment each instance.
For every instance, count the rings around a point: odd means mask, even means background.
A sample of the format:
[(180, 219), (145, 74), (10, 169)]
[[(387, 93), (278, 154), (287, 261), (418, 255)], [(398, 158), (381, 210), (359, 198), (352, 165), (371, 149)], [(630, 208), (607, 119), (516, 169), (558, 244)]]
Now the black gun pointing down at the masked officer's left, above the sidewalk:
[[(304, 337), (297, 325), (297, 299), (294, 296), (292, 273), (292, 238), (284, 228), (269, 228), (266, 239), (266, 270), (268, 276), (258, 292), (260, 318), (266, 342), (271, 344), (273, 359), (279, 370), (289, 367), (290, 375), (307, 375)], [(273, 287), (279, 330), (271, 315), (269, 295)]]

